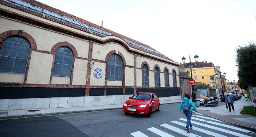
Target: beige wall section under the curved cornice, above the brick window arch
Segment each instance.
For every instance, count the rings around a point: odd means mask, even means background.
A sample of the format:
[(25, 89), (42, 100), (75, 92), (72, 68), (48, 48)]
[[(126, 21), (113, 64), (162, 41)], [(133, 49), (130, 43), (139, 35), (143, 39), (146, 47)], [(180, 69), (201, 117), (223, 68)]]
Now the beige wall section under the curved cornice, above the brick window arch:
[(126, 51), (126, 49), (123, 46), (116, 43), (108, 43), (105, 45), (94, 43), (92, 50), (92, 58), (98, 60), (105, 60), (107, 53), (113, 50), (115, 50), (116, 53), (118, 53), (119, 51), (123, 55), (126, 61), (126, 65), (134, 66), (134, 55), (128, 53), (128, 51)]

